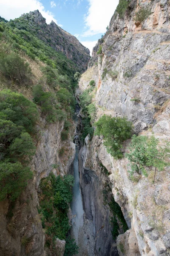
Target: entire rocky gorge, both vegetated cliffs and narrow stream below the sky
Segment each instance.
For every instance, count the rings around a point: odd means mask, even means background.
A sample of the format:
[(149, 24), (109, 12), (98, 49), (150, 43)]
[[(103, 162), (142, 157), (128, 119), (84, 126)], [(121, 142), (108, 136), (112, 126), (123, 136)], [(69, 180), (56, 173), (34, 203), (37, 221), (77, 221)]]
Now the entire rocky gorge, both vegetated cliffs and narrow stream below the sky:
[(119, 0), (91, 58), (38, 10), (1, 18), (0, 256), (170, 255), (169, 143), (168, 0)]

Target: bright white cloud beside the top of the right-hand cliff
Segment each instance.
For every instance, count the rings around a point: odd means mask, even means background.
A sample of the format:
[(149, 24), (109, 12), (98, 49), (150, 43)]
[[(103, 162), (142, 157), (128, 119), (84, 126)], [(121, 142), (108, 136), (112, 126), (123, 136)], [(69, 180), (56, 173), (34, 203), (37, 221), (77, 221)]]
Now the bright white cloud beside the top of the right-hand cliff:
[(88, 0), (89, 9), (85, 16), (83, 36), (91, 36), (106, 32), (111, 17), (116, 10), (119, 0)]

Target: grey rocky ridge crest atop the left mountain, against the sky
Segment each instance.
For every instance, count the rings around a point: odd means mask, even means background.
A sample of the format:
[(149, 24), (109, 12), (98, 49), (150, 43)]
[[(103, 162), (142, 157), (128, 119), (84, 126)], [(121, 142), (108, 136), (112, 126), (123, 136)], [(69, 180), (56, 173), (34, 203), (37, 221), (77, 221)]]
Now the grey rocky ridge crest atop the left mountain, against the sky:
[(90, 60), (90, 51), (75, 36), (60, 28), (53, 20), (48, 25), (38, 10), (21, 17), (28, 21), (29, 29), (34, 30), (40, 40), (53, 49), (63, 52), (68, 59), (77, 64), (77, 70), (81, 72), (86, 70)]

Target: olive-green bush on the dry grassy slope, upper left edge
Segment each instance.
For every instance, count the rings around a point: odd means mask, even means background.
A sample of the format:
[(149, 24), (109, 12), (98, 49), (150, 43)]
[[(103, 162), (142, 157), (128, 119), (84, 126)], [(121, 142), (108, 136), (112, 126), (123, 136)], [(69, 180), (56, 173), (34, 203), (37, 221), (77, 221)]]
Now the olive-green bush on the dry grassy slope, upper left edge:
[(28, 62), (16, 53), (0, 51), (0, 72), (19, 84), (30, 83), (31, 69)]

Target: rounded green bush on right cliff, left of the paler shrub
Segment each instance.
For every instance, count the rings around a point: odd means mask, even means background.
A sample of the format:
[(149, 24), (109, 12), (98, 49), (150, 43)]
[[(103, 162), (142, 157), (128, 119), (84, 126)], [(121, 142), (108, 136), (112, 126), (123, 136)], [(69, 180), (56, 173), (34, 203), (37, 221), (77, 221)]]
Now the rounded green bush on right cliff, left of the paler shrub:
[(132, 135), (132, 122), (127, 121), (125, 117), (103, 115), (95, 125), (95, 134), (103, 136), (108, 153), (116, 159), (122, 158), (122, 143)]

